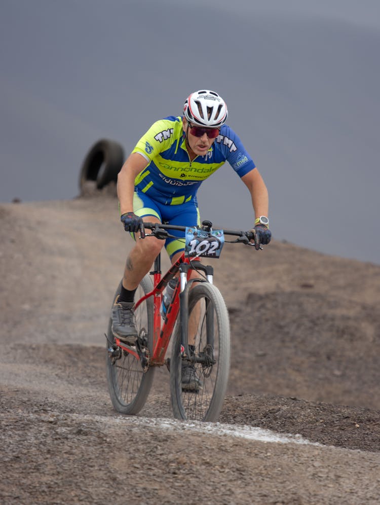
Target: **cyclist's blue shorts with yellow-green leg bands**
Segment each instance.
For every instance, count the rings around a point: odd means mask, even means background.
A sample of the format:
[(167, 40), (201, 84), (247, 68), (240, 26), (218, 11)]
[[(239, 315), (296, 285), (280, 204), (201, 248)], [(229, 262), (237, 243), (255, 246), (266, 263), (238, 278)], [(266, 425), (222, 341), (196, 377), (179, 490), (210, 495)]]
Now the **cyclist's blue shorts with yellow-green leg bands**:
[[(154, 215), (161, 223), (178, 226), (200, 226), (201, 220), (197, 201), (194, 197), (189, 197), (188, 201), (174, 205), (173, 203), (165, 205), (152, 200), (141, 191), (135, 191), (133, 195), (133, 212), (140, 218), (146, 218)], [(148, 221), (148, 220), (146, 220)], [(182, 251), (185, 248), (184, 232), (171, 230), (171, 235), (178, 238), (167, 238), (165, 240), (165, 249), (170, 257)], [(133, 236), (133, 234), (131, 234)]]

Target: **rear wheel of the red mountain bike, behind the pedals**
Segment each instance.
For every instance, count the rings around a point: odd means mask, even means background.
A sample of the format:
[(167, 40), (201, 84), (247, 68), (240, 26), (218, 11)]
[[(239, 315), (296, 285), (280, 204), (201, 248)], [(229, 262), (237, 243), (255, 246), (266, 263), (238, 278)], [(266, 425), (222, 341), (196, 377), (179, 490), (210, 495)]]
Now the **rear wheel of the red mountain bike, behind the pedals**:
[[(116, 297), (120, 294), (121, 282), (116, 290)], [(135, 299), (153, 290), (149, 275), (145, 275), (137, 288)], [(113, 303), (112, 303), (113, 305)], [(148, 349), (153, 351), (153, 298), (149, 297), (135, 311), (135, 327), (139, 335), (147, 334)], [(114, 342), (111, 331), (112, 320), (109, 318), (107, 330), (107, 383), (113, 408), (121, 414), (137, 414), (145, 405), (153, 381), (155, 369), (149, 367), (143, 372), (141, 363), (132, 354), (122, 352), (120, 359), (114, 360), (108, 354), (110, 342)]]

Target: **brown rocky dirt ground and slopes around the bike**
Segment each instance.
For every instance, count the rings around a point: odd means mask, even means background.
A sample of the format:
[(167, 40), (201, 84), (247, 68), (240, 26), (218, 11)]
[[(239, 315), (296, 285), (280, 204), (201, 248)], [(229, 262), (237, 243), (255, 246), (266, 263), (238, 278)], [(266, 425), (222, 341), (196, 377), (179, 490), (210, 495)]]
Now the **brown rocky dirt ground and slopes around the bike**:
[(0, 205), (0, 502), (378, 503), (380, 266), (226, 244), (231, 376), (210, 427), (172, 420), (166, 369), (139, 416), (111, 408), (131, 245), (111, 195)]

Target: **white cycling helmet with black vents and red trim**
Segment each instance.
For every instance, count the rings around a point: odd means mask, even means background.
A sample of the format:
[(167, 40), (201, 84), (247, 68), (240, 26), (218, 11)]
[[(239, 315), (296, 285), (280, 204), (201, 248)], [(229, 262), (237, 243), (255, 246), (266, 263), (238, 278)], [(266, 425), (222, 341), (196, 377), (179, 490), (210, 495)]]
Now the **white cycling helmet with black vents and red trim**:
[(215, 91), (199, 90), (186, 98), (183, 115), (194, 125), (219, 127), (227, 120), (227, 105)]

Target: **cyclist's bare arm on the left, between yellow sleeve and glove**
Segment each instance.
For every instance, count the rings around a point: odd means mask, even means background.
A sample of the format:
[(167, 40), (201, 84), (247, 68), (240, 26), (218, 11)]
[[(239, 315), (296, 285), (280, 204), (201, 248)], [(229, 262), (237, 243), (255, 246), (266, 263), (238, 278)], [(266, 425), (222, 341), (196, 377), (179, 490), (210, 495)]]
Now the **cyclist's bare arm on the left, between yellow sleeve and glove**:
[(146, 158), (139, 153), (132, 153), (118, 174), (118, 198), (121, 215), (133, 212), (133, 193), (135, 178), (148, 164)]

